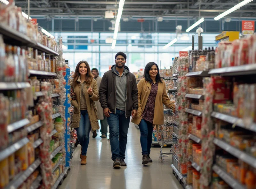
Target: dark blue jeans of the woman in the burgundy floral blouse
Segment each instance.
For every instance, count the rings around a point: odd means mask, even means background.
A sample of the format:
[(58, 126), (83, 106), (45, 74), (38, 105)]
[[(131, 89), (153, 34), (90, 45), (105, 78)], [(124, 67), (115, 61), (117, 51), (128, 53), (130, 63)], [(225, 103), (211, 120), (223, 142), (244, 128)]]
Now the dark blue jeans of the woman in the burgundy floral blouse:
[(140, 145), (142, 148), (142, 155), (150, 154), (151, 144), (152, 144), (152, 132), (153, 123), (149, 123), (144, 119), (141, 119), (140, 124)]

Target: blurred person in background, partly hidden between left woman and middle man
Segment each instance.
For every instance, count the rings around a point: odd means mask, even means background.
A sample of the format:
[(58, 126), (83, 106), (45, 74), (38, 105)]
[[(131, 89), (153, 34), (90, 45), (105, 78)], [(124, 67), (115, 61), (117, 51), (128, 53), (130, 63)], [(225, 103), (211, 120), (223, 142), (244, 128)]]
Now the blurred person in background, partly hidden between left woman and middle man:
[[(100, 88), (100, 82), (101, 77), (99, 76), (99, 72), (97, 68), (92, 68), (92, 75), (94, 76), (94, 79), (97, 81), (98, 90)], [(107, 117), (104, 116), (103, 109), (100, 106), (100, 101), (95, 102), (97, 110), (98, 110), (98, 118), (100, 120), (100, 132), (101, 132), (101, 138), (107, 138), (107, 132), (108, 132), (108, 120)], [(95, 134), (94, 134), (95, 133)], [(95, 138), (97, 136), (97, 132), (94, 131), (92, 137)]]

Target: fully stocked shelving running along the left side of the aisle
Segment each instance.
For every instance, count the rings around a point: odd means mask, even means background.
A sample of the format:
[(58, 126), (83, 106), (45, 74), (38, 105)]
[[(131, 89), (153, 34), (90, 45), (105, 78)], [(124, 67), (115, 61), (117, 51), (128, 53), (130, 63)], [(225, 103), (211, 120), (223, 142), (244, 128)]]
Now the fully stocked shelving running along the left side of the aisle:
[(13, 1), (0, 9), (0, 188), (52, 188), (56, 170), (63, 170), (65, 142), (65, 91), (56, 59), (62, 42), (43, 35)]

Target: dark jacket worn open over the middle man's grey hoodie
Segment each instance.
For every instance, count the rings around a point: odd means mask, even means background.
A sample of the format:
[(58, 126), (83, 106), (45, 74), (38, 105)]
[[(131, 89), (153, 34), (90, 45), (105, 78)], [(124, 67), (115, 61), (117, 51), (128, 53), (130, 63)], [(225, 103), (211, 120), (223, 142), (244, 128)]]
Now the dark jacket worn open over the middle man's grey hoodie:
[[(117, 105), (119, 106), (121, 105), (119, 103), (124, 102), (125, 116), (129, 117), (132, 114), (132, 109), (138, 109), (138, 88), (136, 84), (136, 78), (129, 71), (129, 68), (127, 66), (124, 66), (124, 78), (120, 78), (119, 74), (116, 72), (115, 66), (116, 65), (113, 65), (111, 67), (111, 70), (106, 72), (102, 77), (99, 88), (100, 104), (103, 109), (108, 108), (111, 111), (111, 113), (116, 113)], [(119, 81), (117, 82), (117, 79), (126, 79), (126, 92), (122, 92), (123, 94), (121, 94), (120, 90), (123, 90), (122, 88), (124, 86), (120, 86), (120, 83), (118, 83)], [(120, 82), (123, 83), (122, 80)], [(126, 94), (125, 101), (123, 101), (124, 99), (122, 97), (124, 94)], [(117, 98), (119, 98), (120, 100), (118, 100), (118, 103)]]

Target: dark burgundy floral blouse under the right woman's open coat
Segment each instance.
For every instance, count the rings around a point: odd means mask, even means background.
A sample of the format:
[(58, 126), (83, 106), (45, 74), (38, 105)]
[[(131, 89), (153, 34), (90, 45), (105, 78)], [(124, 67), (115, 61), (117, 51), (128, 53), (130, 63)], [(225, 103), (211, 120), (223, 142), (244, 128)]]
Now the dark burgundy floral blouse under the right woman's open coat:
[(158, 83), (152, 83), (150, 94), (148, 96), (148, 100), (145, 106), (145, 110), (142, 114), (142, 119), (148, 121), (149, 123), (153, 123), (154, 119), (154, 110), (155, 110), (155, 101), (156, 101), (156, 94), (158, 89)]

